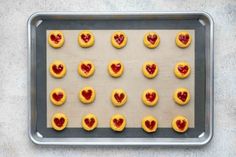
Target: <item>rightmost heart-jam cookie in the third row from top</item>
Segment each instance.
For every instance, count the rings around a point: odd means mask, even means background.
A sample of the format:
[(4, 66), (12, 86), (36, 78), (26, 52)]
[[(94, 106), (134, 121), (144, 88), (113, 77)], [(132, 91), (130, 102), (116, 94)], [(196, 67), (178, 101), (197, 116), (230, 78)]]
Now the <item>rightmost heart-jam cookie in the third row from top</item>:
[(190, 93), (186, 88), (177, 88), (173, 95), (174, 101), (179, 105), (186, 105), (190, 101)]

